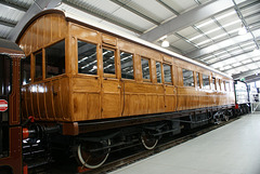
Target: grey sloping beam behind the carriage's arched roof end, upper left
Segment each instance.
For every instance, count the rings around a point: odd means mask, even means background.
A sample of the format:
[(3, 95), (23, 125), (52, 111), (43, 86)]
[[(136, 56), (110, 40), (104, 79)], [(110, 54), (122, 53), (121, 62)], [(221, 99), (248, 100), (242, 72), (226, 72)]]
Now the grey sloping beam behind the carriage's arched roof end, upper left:
[(62, 0), (35, 0), (30, 8), (27, 10), (23, 18), (17, 23), (17, 25), (11, 30), (8, 39), (15, 41), (24, 26), (29, 22), (31, 17), (40, 13), (44, 9), (55, 8)]

